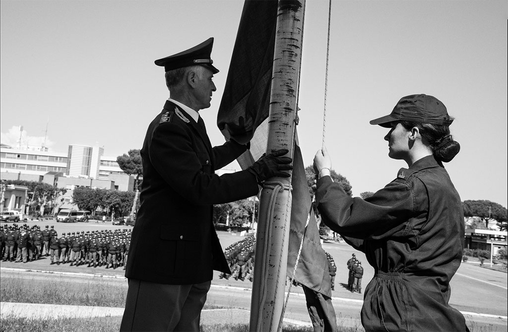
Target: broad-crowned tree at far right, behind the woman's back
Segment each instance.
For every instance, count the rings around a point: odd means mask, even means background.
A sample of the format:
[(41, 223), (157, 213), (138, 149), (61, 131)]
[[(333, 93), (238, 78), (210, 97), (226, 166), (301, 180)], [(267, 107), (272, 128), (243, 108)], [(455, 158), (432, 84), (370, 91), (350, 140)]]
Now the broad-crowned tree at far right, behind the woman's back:
[(501, 229), (506, 229), (508, 220), (508, 211), (500, 204), (487, 201), (464, 201), (462, 202), (464, 217), (479, 217), (488, 227), (489, 221), (494, 219), (500, 225)]

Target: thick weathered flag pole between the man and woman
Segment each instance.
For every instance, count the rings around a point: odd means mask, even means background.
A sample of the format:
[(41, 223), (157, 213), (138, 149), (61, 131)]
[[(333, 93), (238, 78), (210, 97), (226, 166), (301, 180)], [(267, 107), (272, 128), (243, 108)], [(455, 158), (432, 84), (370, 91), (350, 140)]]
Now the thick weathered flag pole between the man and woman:
[[(267, 153), (293, 154), (305, 0), (279, 0)], [(288, 263), (291, 178), (265, 181), (258, 213), (250, 331), (280, 331)]]

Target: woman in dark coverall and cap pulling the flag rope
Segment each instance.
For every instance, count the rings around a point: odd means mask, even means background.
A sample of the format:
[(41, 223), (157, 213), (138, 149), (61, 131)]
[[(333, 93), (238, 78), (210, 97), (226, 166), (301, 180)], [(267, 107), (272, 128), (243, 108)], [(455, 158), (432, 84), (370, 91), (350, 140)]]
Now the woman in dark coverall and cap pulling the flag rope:
[(333, 182), (325, 148), (314, 157), (323, 221), (375, 269), (361, 312), (366, 331), (468, 330), (448, 304), (464, 245), (461, 200), (442, 164), (460, 150), (450, 135), (452, 121), (446, 107), (425, 94), (403, 97), (390, 115), (370, 121), (390, 128), (388, 155), (408, 168), (365, 200)]

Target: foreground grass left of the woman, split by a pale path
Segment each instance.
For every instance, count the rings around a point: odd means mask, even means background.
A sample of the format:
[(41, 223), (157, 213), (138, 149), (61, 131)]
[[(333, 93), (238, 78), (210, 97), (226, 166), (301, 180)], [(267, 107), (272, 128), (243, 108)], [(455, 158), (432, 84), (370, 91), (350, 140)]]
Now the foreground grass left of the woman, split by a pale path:
[[(125, 305), (127, 286), (104, 279), (67, 280), (55, 277), (51, 280), (0, 277), (0, 301), (17, 303), (41, 303), (75, 306), (117, 307)], [(204, 309), (224, 309), (205, 304)], [(357, 332), (361, 327), (344, 327), (337, 317), (340, 332)], [(0, 332), (109, 332), (118, 331), (121, 317), (90, 318), (21, 318), (1, 317)], [(343, 323), (343, 322), (342, 322)], [(202, 325), (203, 332), (248, 332), (248, 324)], [(284, 326), (284, 332), (313, 332), (312, 327)]]

